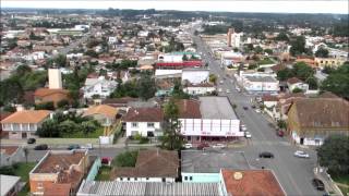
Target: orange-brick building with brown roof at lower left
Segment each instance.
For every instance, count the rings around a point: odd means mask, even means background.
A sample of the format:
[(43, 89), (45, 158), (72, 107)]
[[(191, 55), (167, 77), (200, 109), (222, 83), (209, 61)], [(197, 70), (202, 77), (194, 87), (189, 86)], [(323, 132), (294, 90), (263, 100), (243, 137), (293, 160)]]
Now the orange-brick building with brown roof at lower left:
[(50, 150), (29, 172), (31, 194), (45, 195), (55, 186), (74, 194), (87, 169), (87, 150)]

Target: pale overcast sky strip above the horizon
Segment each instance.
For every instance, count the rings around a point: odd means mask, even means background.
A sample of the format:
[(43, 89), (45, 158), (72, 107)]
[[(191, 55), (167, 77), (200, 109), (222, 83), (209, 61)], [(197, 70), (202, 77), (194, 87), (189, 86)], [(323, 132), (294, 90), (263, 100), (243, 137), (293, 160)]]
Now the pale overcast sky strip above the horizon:
[(1, 0), (2, 8), (60, 8), (60, 9), (156, 9), (183, 11), (229, 11), (273, 13), (344, 13), (348, 14), (348, 0), (303, 1), (303, 0)]

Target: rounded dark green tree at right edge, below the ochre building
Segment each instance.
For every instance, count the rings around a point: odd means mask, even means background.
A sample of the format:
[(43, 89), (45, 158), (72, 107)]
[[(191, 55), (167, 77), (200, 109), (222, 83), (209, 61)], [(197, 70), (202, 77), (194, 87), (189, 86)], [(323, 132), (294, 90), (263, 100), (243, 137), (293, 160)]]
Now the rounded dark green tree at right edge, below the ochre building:
[(333, 135), (324, 140), (317, 149), (318, 163), (328, 168), (332, 174), (348, 174), (349, 171), (349, 136)]

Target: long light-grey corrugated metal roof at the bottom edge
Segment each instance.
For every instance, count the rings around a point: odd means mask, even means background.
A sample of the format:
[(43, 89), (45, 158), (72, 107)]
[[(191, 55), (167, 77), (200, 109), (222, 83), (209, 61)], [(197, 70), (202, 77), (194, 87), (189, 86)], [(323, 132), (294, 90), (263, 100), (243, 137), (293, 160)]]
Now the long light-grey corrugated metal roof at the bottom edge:
[(210, 196), (219, 195), (218, 183), (163, 183), (163, 182), (117, 182), (87, 181), (77, 195), (115, 196)]

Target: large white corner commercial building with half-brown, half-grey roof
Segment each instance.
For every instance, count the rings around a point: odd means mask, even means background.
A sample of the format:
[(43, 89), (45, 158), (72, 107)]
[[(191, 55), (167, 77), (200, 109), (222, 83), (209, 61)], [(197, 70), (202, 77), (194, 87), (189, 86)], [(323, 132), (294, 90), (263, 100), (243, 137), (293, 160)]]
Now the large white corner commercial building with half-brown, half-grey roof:
[(242, 137), (240, 120), (227, 97), (200, 97), (177, 102), (181, 134), (189, 143), (202, 140), (231, 140)]

